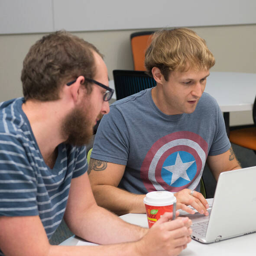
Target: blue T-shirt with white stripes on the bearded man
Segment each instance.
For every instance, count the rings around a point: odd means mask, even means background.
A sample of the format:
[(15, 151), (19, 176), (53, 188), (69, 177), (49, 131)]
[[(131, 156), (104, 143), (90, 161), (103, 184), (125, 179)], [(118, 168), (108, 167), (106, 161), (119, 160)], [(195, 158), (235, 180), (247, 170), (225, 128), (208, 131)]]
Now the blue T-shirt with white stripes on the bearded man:
[(71, 178), (87, 171), (86, 148), (60, 144), (50, 169), (23, 102), (18, 98), (0, 103), (0, 216), (39, 215), (50, 238), (64, 215)]

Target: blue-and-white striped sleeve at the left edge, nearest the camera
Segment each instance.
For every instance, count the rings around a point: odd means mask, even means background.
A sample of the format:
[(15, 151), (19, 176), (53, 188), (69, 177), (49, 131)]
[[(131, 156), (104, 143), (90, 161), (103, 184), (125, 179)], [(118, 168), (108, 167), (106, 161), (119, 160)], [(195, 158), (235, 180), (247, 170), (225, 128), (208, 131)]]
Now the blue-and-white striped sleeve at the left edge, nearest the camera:
[(0, 135), (0, 216), (38, 215), (37, 179), (26, 156), (26, 142)]

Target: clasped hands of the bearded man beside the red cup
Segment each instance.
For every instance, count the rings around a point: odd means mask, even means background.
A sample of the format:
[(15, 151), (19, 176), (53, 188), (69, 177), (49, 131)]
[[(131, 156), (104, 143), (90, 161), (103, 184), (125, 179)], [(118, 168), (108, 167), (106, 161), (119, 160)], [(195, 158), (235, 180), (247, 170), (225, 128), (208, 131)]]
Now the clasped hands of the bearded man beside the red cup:
[(166, 212), (137, 242), (139, 255), (176, 256), (187, 247), (191, 241), (191, 220), (188, 217), (170, 220), (172, 213)]

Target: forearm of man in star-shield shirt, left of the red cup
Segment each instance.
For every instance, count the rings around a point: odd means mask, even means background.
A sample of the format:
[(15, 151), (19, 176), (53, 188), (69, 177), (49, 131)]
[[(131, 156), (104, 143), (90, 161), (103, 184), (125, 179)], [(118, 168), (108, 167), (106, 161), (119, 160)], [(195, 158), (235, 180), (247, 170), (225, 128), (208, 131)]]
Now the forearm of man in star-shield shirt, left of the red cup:
[(146, 213), (145, 194), (133, 194), (111, 185), (94, 185), (93, 192), (98, 205), (117, 215)]

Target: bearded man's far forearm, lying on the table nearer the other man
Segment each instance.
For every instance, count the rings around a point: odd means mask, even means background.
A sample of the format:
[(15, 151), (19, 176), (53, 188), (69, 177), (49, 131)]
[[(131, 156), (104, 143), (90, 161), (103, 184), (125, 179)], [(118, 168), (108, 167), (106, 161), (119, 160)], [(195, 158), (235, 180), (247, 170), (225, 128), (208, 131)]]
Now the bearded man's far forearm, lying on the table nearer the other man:
[(96, 204), (79, 215), (65, 216), (65, 220), (78, 237), (99, 244), (137, 241), (148, 232), (148, 229), (129, 224)]

